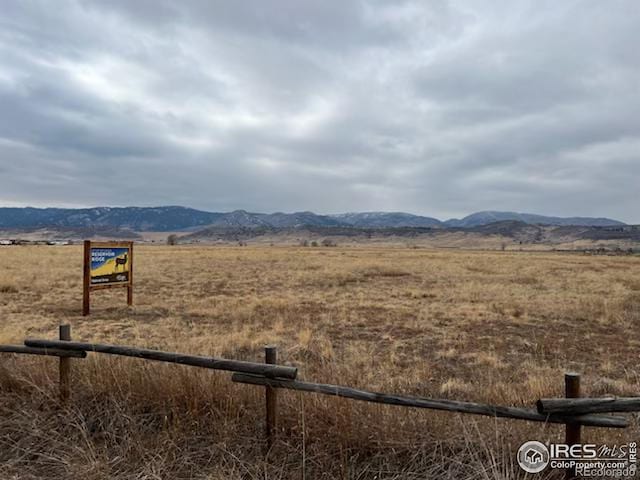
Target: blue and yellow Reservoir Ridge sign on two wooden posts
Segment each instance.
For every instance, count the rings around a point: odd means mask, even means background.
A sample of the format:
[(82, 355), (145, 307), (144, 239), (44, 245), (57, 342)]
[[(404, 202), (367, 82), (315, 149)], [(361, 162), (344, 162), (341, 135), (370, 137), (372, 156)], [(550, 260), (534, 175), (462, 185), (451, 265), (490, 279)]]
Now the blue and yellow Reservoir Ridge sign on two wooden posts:
[(82, 315), (91, 311), (91, 291), (127, 289), (127, 305), (133, 304), (133, 242), (84, 241)]

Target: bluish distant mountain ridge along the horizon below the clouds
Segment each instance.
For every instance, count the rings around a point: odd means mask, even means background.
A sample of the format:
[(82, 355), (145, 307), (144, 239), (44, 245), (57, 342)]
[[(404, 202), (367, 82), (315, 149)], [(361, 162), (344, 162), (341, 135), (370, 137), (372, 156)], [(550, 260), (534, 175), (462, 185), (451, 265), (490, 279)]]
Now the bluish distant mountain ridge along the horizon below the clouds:
[(132, 231), (184, 231), (205, 227), (220, 228), (473, 228), (502, 221), (530, 225), (613, 227), (625, 223), (609, 218), (548, 217), (530, 213), (485, 211), (462, 219), (442, 222), (436, 218), (404, 212), (359, 212), (319, 215), (313, 212), (252, 213), (205, 212), (180, 206), (166, 207), (96, 207), (68, 208), (0, 208), (0, 228), (97, 228), (117, 227)]

